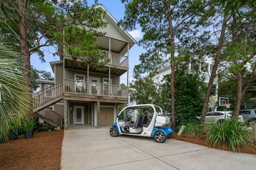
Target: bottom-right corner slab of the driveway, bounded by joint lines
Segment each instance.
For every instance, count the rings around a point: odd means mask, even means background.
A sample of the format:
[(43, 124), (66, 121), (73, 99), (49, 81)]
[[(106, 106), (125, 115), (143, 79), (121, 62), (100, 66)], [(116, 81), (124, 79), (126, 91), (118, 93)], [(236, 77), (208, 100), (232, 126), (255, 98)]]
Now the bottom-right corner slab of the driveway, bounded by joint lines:
[(255, 170), (256, 155), (206, 149), (164, 156), (162, 161), (180, 170)]

